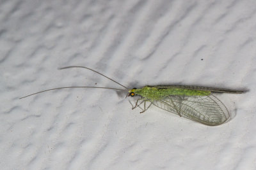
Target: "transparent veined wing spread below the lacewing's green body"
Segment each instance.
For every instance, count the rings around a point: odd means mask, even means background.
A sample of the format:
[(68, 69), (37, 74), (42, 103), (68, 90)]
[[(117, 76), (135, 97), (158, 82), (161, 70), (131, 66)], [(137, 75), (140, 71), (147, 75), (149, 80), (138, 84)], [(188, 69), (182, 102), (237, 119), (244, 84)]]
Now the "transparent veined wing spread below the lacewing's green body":
[(168, 96), (152, 102), (170, 111), (205, 125), (221, 125), (230, 117), (227, 108), (213, 96)]

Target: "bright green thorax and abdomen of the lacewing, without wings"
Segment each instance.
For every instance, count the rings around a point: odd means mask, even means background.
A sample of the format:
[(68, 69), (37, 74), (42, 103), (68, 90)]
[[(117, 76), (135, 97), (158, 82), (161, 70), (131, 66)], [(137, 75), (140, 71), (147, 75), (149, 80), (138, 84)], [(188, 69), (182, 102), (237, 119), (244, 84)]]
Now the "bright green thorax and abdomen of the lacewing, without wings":
[(209, 90), (196, 90), (196, 89), (188, 89), (184, 87), (150, 87), (145, 86), (141, 89), (132, 89), (129, 92), (134, 92), (142, 97), (147, 99), (161, 99), (166, 96), (209, 96), (211, 91)]

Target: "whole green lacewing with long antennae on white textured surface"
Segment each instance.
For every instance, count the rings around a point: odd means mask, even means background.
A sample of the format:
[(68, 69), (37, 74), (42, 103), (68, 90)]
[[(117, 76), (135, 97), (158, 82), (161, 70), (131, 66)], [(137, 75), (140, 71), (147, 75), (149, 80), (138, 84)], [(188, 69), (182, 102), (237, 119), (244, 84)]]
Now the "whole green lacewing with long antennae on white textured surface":
[[(137, 99), (134, 108), (143, 106), (143, 113), (150, 108), (150, 106), (156, 106), (165, 111), (169, 111), (179, 115), (180, 117), (189, 118), (195, 122), (199, 122), (204, 125), (221, 125), (230, 118), (230, 114), (226, 106), (213, 94), (214, 93), (232, 93), (232, 94), (242, 94), (246, 90), (230, 90), (230, 89), (220, 89), (211, 87), (197, 87), (197, 86), (185, 86), (185, 85), (159, 85), (159, 86), (145, 86), (140, 89), (128, 89), (124, 85), (118, 83), (117, 81), (105, 76), (98, 71), (90, 69), (83, 66), (68, 66), (61, 67), (60, 69), (68, 68), (84, 68), (89, 69), (97, 74), (100, 74), (109, 80), (117, 83), (118, 85), (124, 87), (124, 89), (116, 89), (112, 87), (58, 87), (55, 89), (43, 90), (36, 92), (34, 94), (29, 94), (28, 96), (20, 97), (20, 99), (33, 96), (42, 92), (47, 92), (50, 90), (58, 89), (70, 89), (70, 88), (93, 88), (93, 89), (111, 89), (111, 90), (122, 90), (128, 92), (126, 97), (140, 96)], [(149, 103), (148, 106), (146, 103)]]

